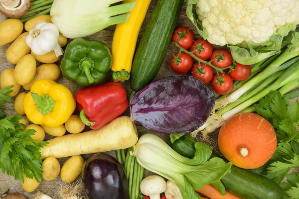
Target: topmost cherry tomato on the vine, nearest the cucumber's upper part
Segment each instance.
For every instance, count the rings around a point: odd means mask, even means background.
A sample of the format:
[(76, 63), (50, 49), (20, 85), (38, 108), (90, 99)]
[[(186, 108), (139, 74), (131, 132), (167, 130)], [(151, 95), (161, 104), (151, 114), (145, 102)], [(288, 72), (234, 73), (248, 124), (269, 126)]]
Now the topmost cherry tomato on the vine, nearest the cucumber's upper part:
[(179, 37), (178, 33), (182, 34), (183, 37), (177, 41), (177, 44), (183, 49), (187, 50), (188, 48), (190, 48), (194, 40), (193, 31), (186, 26), (177, 27), (173, 32), (171, 38), (172, 42), (176, 42)]

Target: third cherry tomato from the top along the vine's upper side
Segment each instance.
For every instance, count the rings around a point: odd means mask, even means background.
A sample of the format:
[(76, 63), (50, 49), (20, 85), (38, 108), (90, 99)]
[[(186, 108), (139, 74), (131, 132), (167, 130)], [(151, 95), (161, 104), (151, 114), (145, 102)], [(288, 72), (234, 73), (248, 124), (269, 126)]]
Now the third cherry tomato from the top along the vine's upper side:
[[(217, 59), (214, 59), (215, 56), (217, 56), (219, 59), (218, 63), (217, 63)], [(220, 57), (222, 57), (223, 59), (221, 60)], [(223, 50), (223, 49), (214, 50), (210, 57), (210, 61), (212, 59), (214, 59), (214, 60), (211, 62), (211, 64), (213, 64), (214, 66), (216, 66), (218, 68), (225, 68), (225, 67), (231, 66), (233, 63), (232, 54), (230, 52), (228, 52), (227, 50)]]

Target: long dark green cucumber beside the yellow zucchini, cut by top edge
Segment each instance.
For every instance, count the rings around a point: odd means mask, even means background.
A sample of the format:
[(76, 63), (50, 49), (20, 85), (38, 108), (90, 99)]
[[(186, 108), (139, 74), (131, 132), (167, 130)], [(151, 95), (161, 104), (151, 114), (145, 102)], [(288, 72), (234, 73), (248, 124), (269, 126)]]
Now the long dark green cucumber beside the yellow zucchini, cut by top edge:
[(156, 1), (133, 60), (131, 71), (133, 93), (147, 86), (160, 70), (183, 1)]

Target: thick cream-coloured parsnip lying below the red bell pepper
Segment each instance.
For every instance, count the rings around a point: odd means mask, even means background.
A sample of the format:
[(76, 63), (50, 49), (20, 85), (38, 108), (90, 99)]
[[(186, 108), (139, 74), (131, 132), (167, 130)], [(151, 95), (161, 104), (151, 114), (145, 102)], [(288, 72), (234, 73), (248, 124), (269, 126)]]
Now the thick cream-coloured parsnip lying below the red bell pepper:
[(126, 149), (134, 146), (137, 141), (138, 134), (134, 122), (128, 116), (121, 116), (98, 130), (48, 140), (49, 144), (41, 148), (41, 159)]

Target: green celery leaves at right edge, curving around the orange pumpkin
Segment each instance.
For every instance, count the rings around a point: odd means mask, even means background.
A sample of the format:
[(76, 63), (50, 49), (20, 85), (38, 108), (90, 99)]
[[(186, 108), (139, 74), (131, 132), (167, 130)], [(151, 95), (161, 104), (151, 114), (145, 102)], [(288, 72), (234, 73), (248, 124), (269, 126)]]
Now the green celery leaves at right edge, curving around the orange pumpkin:
[(279, 184), (292, 167), (299, 166), (299, 101), (290, 104), (289, 100), (289, 96), (273, 91), (255, 104), (256, 112), (272, 124), (279, 143), (272, 158), (252, 171)]

